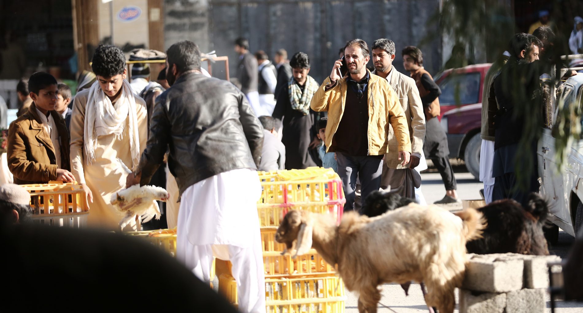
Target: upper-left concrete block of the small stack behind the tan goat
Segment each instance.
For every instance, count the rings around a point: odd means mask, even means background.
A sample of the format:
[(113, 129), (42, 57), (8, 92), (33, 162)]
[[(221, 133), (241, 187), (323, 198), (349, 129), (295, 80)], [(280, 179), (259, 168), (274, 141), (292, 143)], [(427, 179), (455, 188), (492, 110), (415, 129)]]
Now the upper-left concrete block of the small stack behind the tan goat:
[(466, 264), (463, 289), (503, 293), (522, 289), (524, 261), (512, 258), (472, 258)]

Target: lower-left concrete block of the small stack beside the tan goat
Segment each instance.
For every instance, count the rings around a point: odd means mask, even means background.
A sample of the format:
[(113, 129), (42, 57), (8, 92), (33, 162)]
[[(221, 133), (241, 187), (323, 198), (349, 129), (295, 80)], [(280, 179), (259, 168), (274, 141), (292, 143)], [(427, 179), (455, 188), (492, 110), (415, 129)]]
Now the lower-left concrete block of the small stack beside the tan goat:
[(505, 293), (480, 293), (459, 289), (459, 313), (504, 313), (505, 307)]

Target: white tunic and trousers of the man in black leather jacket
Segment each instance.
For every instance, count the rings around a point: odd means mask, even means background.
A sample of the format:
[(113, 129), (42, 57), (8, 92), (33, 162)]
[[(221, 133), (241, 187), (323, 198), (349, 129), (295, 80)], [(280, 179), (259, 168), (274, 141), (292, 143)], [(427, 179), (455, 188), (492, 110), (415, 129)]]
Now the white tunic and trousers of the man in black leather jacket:
[(231, 261), (241, 312), (265, 312), (260, 196), (255, 170), (230, 170), (188, 187), (178, 212), (178, 259), (204, 282), (213, 256)]

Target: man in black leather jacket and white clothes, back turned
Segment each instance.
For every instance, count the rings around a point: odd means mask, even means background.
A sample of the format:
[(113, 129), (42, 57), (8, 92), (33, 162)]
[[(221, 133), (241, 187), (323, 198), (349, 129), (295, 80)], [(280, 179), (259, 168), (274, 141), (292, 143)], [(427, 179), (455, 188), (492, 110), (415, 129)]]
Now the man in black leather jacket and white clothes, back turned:
[(181, 41), (166, 52), (170, 88), (156, 98), (150, 138), (128, 186), (143, 186), (170, 150), (180, 190), (177, 258), (209, 281), (213, 256), (229, 260), (242, 312), (265, 312), (257, 201), (263, 127), (228, 81), (201, 74), (201, 52)]

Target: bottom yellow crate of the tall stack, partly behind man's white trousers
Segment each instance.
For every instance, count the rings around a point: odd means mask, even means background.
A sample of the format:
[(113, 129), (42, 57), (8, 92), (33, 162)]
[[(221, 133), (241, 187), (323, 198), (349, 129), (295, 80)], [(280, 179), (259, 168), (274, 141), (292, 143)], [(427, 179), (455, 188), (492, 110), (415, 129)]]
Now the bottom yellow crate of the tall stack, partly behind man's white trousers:
[[(230, 275), (221, 275), (219, 291), (237, 305), (237, 283)], [(266, 278), (266, 311), (270, 313), (343, 313), (345, 291), (338, 276), (302, 278)]]

